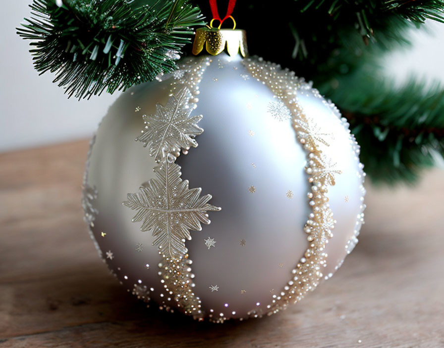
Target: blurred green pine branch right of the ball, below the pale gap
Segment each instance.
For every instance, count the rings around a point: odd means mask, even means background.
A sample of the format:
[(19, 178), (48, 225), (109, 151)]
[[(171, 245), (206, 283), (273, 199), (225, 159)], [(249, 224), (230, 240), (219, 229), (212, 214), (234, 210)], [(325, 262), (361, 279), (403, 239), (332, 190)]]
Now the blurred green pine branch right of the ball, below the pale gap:
[(444, 88), (414, 80), (396, 88), (374, 71), (339, 78), (330, 96), (348, 119), (372, 180), (412, 182), (434, 164), (433, 151), (444, 156)]

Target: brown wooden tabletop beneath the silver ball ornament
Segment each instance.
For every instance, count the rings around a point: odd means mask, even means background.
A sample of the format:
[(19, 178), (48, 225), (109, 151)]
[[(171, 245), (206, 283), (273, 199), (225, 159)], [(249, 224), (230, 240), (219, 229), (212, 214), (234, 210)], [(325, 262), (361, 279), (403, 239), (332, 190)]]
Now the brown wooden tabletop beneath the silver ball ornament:
[(0, 347), (444, 347), (444, 172), (367, 183), (360, 243), (277, 315), (223, 325), (147, 309), (82, 220), (87, 141), (0, 154)]

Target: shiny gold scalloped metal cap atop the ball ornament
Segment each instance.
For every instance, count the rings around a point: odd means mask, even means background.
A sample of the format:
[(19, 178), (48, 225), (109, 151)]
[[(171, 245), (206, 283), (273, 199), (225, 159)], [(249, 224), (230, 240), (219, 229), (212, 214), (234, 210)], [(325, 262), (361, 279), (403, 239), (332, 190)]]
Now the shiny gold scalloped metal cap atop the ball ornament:
[(226, 46), (230, 56), (239, 51), (242, 57), (248, 56), (247, 34), (242, 29), (199, 28), (193, 43), (193, 54), (199, 54), (205, 48), (211, 55), (218, 55)]

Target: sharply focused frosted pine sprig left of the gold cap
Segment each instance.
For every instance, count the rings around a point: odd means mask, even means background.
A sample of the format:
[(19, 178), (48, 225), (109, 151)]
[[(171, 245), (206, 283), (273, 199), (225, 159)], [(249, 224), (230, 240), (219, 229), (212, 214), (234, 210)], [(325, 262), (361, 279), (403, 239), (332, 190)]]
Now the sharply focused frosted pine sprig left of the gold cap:
[(127, 0), (34, 0), (17, 33), (31, 40), (34, 66), (77, 98), (112, 93), (176, 68), (203, 16), (187, 0), (134, 7)]

